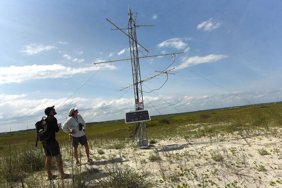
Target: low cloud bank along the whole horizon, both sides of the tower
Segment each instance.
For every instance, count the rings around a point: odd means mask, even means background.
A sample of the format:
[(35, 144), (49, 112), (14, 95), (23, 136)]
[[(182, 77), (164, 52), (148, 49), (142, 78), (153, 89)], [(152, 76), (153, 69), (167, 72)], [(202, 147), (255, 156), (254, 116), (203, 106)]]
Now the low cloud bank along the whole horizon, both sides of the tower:
[[(145, 89), (144, 89), (145, 90)], [(276, 100), (277, 91), (265, 93), (264, 91), (256, 92), (241, 92), (234, 91), (243, 98), (259, 99), (261, 103), (269, 102), (269, 100)], [(279, 90), (280, 91), (280, 90)], [(101, 98), (70, 98), (67, 100), (59, 109), (58, 106), (61, 105), (66, 98), (61, 98), (58, 100), (43, 98), (40, 100), (28, 100), (22, 98), (25, 94), (21, 95), (0, 95), (0, 109), (5, 109), (0, 113), (1, 124), (0, 128), (2, 132), (8, 131), (10, 125), (13, 130), (22, 130), (23, 124), (33, 123), (40, 120), (44, 116), (44, 109), (48, 106), (55, 105), (56, 118), (58, 122), (65, 122), (66, 116), (68, 115), (68, 110), (70, 108), (78, 107), (80, 114), (82, 115), (85, 122), (90, 121), (95, 115), (104, 110), (107, 106), (115, 101), (119, 96), (114, 96), (110, 99)], [(230, 107), (233, 105), (245, 105), (245, 101), (238, 98), (232, 93), (222, 93), (222, 94), (204, 94), (204, 95), (160, 95), (164, 100), (168, 101), (171, 105), (177, 108), (181, 112), (195, 111), (195, 110), (207, 110), (211, 108), (221, 108)], [(6, 100), (3, 101), (2, 99)], [(155, 95), (147, 94), (146, 98), (160, 111), (161, 114), (169, 113), (179, 113), (168, 103), (162, 100), (160, 97)], [(221, 103), (221, 104), (220, 104)], [(146, 110), (149, 110), (150, 115), (158, 115), (155, 108), (152, 107), (150, 103), (144, 99), (144, 106)], [(95, 117), (95, 119), (90, 122), (105, 121), (105, 120), (115, 120), (124, 118), (124, 113), (134, 109), (134, 99), (133, 98), (120, 98), (115, 103), (110, 105), (103, 113)]]

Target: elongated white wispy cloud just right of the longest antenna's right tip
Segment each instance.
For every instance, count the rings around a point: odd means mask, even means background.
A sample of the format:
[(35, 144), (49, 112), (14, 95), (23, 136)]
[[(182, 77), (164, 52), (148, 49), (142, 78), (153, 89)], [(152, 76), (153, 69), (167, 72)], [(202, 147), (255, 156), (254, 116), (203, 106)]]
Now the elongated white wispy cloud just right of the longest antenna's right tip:
[(178, 66), (175, 69), (181, 69), (183, 67), (189, 67), (200, 63), (214, 62), (227, 57), (228, 57), (227, 55), (214, 55), (214, 54), (210, 54), (208, 56), (202, 56), (202, 57), (201, 56), (194, 56), (189, 58), (186, 57), (186, 58), (182, 58), (183, 63), (181, 64), (181, 66)]

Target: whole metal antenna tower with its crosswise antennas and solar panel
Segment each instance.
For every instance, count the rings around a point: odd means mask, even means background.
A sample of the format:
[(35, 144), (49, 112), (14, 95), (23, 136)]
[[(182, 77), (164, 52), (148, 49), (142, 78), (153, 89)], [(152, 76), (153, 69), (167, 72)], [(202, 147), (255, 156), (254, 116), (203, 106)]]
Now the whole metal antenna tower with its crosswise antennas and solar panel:
[[(178, 52), (176, 51), (174, 53), (167, 53), (167, 54), (160, 54), (160, 55), (154, 55), (154, 56), (142, 56), (139, 57), (138, 52), (142, 52), (138, 50), (138, 47), (140, 46), (143, 48), (145, 51), (149, 53), (149, 50), (146, 49), (144, 46), (142, 46), (138, 41), (137, 41), (137, 35), (136, 35), (136, 28), (137, 27), (145, 27), (145, 26), (155, 26), (155, 25), (137, 25), (136, 24), (136, 18), (137, 18), (137, 13), (135, 14), (134, 19), (132, 18), (133, 14), (131, 13), (131, 10), (129, 9), (128, 5), (128, 16), (129, 19), (127, 21), (127, 27), (118, 27), (116, 26), (113, 22), (110, 20), (106, 19), (106, 21), (110, 22), (115, 28), (112, 28), (112, 30), (120, 30), (122, 33), (124, 33), (126, 36), (129, 38), (129, 47), (130, 47), (130, 58), (127, 59), (120, 59), (120, 60), (113, 60), (113, 61), (105, 61), (105, 62), (98, 62), (93, 64), (100, 64), (100, 63), (112, 63), (116, 61), (125, 61), (125, 60), (130, 60), (131, 61), (131, 66), (132, 66), (132, 78), (133, 78), (133, 84), (130, 84), (129, 86), (120, 89), (121, 91), (124, 89), (128, 89), (133, 86), (134, 88), (134, 98), (135, 98), (135, 110), (129, 111), (128, 113), (125, 113), (125, 123), (135, 123), (136, 122), (136, 129), (129, 135), (129, 138), (134, 139), (136, 137), (136, 145), (139, 148), (148, 148), (148, 139), (147, 139), (147, 132), (146, 132), (146, 122), (150, 121), (150, 115), (148, 110), (144, 110), (144, 103), (143, 103), (143, 93), (142, 93), (142, 82), (149, 81), (157, 76), (163, 76), (162, 74), (169, 74), (172, 75), (174, 74), (173, 71), (171, 71), (174, 68), (170, 68), (168, 70), (162, 70), (155, 72), (157, 74), (152, 75), (148, 78), (145, 78), (141, 80), (141, 74), (140, 74), (140, 64), (139, 64), (139, 59), (140, 58), (149, 58), (149, 57), (157, 57), (157, 56), (167, 56), (167, 55), (172, 55), (175, 56), (175, 54), (180, 54), (183, 52)], [(125, 31), (127, 30), (127, 33)], [(166, 75), (166, 76), (167, 76)]]

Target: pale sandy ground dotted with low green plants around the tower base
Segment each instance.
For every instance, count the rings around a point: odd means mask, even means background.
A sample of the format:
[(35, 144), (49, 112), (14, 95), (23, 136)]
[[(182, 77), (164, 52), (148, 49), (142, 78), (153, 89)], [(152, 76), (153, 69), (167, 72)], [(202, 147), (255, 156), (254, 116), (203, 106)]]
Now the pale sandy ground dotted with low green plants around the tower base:
[[(278, 132), (281, 135), (281, 129)], [(88, 164), (83, 155), (82, 170), (97, 168), (93, 176), (105, 178), (105, 166), (114, 161), (149, 174), (147, 178), (160, 187), (282, 187), (280, 136), (223, 135), (192, 140), (173, 137), (156, 141), (150, 149), (92, 148), (90, 156), (95, 162)], [(98, 154), (98, 149), (105, 154)], [(150, 155), (159, 155), (161, 160), (150, 161)], [(70, 172), (70, 167), (65, 171)]]

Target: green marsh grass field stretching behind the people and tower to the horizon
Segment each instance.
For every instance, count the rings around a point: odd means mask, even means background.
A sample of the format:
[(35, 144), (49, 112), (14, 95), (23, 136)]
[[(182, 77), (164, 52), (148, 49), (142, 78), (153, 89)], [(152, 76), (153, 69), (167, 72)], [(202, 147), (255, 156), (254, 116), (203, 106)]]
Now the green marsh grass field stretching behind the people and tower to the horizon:
[[(147, 136), (149, 140), (154, 140), (170, 139), (181, 134), (186, 140), (191, 140), (199, 137), (219, 138), (222, 135), (228, 137), (233, 134), (277, 135), (276, 128), (282, 127), (281, 107), (282, 103), (276, 103), (151, 117), (151, 121), (146, 124)], [(128, 135), (134, 129), (135, 125), (125, 124), (124, 120), (105, 122), (87, 125), (86, 135), (91, 147), (107, 147), (105, 143), (117, 143), (111, 147), (122, 149), (130, 144)], [(60, 130), (56, 133), (56, 139), (63, 149), (62, 153), (67, 153), (63, 155), (63, 162), (73, 161), (70, 160), (68, 135)], [(13, 182), (21, 179), (27, 181), (27, 174), (30, 176), (33, 172), (45, 170), (43, 148), (40, 143), (38, 147), (34, 147), (35, 140), (35, 131), (0, 135), (1, 187), (13, 187)], [(119, 170), (122, 169), (117, 169), (117, 172)], [(72, 182), (74, 184), (75, 181)]]

